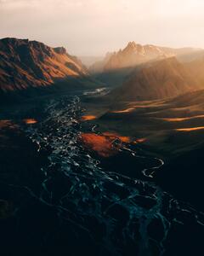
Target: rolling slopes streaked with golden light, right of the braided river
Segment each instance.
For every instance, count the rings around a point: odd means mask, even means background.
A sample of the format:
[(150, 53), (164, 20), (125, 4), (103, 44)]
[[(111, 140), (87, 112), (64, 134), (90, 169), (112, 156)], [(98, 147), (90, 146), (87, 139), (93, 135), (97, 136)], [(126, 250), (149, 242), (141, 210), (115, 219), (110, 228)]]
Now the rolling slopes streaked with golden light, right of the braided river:
[(100, 130), (132, 137), (168, 159), (204, 146), (203, 102), (204, 91), (195, 91), (150, 102), (86, 99), (83, 107)]

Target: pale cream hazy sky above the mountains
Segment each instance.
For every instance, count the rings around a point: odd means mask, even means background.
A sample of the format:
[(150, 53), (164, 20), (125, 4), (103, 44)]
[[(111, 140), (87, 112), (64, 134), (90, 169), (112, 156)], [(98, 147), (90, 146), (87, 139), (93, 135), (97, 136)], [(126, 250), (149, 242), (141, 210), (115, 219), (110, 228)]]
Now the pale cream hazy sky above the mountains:
[(128, 41), (204, 48), (204, 0), (0, 0), (0, 38), (103, 55)]

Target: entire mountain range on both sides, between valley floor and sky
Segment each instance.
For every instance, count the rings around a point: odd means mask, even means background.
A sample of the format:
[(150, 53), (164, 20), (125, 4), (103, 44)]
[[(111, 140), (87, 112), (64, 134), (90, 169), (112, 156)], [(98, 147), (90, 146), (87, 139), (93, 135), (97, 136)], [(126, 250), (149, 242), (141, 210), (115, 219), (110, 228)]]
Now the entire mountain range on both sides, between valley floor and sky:
[(203, 71), (201, 49), (129, 42), (88, 69), (63, 47), (28, 39), (0, 40), (0, 95), (53, 88), (55, 84), (70, 90), (79, 84), (86, 88), (105, 82), (116, 87), (109, 95), (111, 101), (155, 100), (203, 89)]

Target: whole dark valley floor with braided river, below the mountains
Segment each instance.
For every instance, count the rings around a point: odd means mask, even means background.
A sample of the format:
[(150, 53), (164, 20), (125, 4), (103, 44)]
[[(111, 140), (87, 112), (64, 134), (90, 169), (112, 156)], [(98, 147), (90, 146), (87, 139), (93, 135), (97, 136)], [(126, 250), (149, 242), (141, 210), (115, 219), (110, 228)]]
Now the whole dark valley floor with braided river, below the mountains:
[[(170, 115), (169, 106), (184, 108), (174, 100), (110, 106), (95, 96), (82, 99), (59, 96), (46, 99), (48, 105), (30, 102), (16, 113), (15, 108), (1, 113), (3, 255), (191, 256), (203, 251), (200, 170), (183, 176), (186, 158), (175, 158), (188, 147), (200, 150), (200, 130), (177, 129), (197, 127), (188, 120), (202, 113), (194, 108), (191, 116)], [(167, 143), (164, 131), (184, 133), (170, 158), (176, 147)], [(198, 135), (189, 145), (191, 132)], [(197, 154), (190, 155), (195, 163)], [(170, 161), (167, 172), (166, 166), (156, 169), (167, 177), (144, 177), (144, 169), (160, 167), (157, 156)]]

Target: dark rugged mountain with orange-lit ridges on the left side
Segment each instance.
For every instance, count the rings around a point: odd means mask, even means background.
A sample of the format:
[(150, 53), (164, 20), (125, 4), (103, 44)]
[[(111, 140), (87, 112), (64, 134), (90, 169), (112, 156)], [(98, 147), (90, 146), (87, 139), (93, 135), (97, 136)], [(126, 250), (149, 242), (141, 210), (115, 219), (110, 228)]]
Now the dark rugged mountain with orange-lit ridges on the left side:
[(51, 48), (37, 41), (0, 40), (0, 93), (47, 87), (68, 78), (88, 76), (88, 70), (65, 48)]

